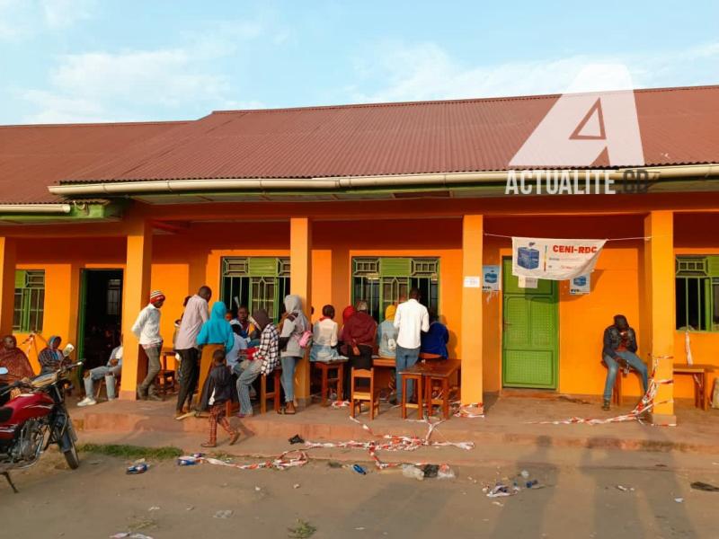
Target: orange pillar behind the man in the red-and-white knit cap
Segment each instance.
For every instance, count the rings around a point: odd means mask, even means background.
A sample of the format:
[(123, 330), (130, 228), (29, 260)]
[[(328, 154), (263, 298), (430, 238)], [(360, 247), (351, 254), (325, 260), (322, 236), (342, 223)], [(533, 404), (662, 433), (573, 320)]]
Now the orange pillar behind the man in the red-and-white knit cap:
[(122, 291), (122, 383), (120, 399), (136, 400), (139, 360), (144, 358), (138, 338), (131, 328), (139, 312), (147, 305), (150, 296), (152, 264), (152, 226), (142, 217), (133, 217), (128, 223), (127, 266)]

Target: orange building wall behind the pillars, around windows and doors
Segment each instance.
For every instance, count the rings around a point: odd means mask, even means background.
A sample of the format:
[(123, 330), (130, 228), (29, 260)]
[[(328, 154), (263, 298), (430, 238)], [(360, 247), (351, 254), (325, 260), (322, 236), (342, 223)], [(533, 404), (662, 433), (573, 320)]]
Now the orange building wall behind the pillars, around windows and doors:
[[(711, 216), (697, 225), (695, 216), (677, 216), (675, 251), (678, 254), (719, 253), (712, 238)], [(489, 234), (544, 237), (628, 237), (643, 235), (641, 216), (511, 216), (488, 217)], [(220, 259), (229, 255), (287, 256), (288, 223), (191, 225), (178, 234), (155, 234), (152, 287), (168, 297), (163, 310), (165, 343), (173, 338), (173, 321), (182, 313), (182, 299), (202, 284), (219, 296)], [(706, 231), (703, 233), (702, 231)], [(500, 264), (510, 255), (510, 240), (487, 236), (484, 263)], [(714, 247), (712, 247), (714, 243)], [(461, 220), (316, 221), (313, 237), (313, 305), (315, 320), (324, 304), (335, 306), (338, 317), (351, 301), (352, 256), (438, 256), (440, 259), (439, 310), (450, 331), (450, 354), (456, 355), (462, 305)], [(46, 271), (44, 337), (58, 333), (76, 345), (80, 270), (124, 269), (125, 241), (121, 237), (90, 239), (27, 239), (18, 248), (19, 269)], [(624, 313), (640, 337), (645, 358), (644, 320), (641, 317), (643, 242), (608, 243), (592, 276), (587, 296), (570, 296), (560, 285), (559, 391), (599, 394), (606, 368), (599, 362), (601, 335), (613, 314)], [(483, 295), (484, 390), (498, 391), (502, 384), (502, 297)], [(472, 308), (466, 305), (465, 308)], [(476, 305), (478, 308), (479, 305)], [(22, 341), (24, 335), (18, 335)], [(684, 360), (684, 335), (675, 335), (675, 356)], [(692, 333), (697, 363), (719, 366), (719, 333)], [(41, 346), (39, 345), (38, 349)], [(31, 360), (36, 362), (34, 350)], [(35, 367), (37, 365), (35, 364)], [(676, 396), (691, 396), (690, 379), (679, 378)], [(639, 393), (635, 375), (626, 378), (625, 392)]]

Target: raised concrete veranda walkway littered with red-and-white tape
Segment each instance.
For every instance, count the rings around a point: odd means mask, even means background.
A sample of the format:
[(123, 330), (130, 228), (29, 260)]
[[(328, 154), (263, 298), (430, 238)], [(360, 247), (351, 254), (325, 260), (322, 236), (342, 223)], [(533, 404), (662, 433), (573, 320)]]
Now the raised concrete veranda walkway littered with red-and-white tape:
[[(652, 427), (636, 421), (607, 425), (544, 425), (539, 420), (563, 420), (571, 417), (608, 418), (626, 413), (629, 406), (610, 412), (601, 411), (596, 402), (582, 403), (554, 399), (501, 398), (491, 403), (483, 419), (451, 418), (444, 421), (432, 439), (473, 441), (483, 450), (485, 458), (502, 460), (509, 457), (542, 460), (553, 449), (592, 448), (626, 455), (627, 451), (665, 453), (671, 458), (678, 455), (696, 457), (706, 455), (711, 461), (719, 461), (719, 411), (698, 411), (679, 405), (677, 427)], [(173, 419), (174, 402), (102, 402), (89, 408), (73, 408), (71, 415), (75, 425), (86, 440), (140, 445), (177, 445), (183, 449), (195, 449), (207, 433), (207, 420), (203, 418)], [(278, 415), (274, 412), (255, 415), (252, 418), (232, 422), (243, 432), (241, 441), (232, 448), (235, 455), (276, 455), (290, 448), (287, 440), (296, 434), (306, 440), (347, 441), (373, 439), (371, 434), (348, 418), (349, 409), (323, 408), (312, 405), (295, 416)], [(381, 413), (374, 421), (367, 414), (359, 420), (368, 424), (377, 436), (414, 435), (423, 437), (427, 424), (402, 420), (398, 408), (383, 404)], [(219, 440), (223, 434), (219, 430)], [(145, 440), (145, 443), (143, 443)], [(152, 444), (147, 444), (152, 440)], [(489, 448), (492, 448), (490, 450)], [(228, 451), (227, 446), (218, 450)], [(435, 451), (422, 448), (422, 452)], [(449, 460), (461, 461), (470, 452), (456, 448), (442, 448)], [(514, 452), (509, 455), (508, 451)], [(315, 450), (313, 450), (315, 452)], [(351, 451), (356, 453), (356, 450)], [(403, 452), (405, 453), (405, 452)], [(415, 455), (416, 452), (413, 452)], [(586, 452), (580, 452), (583, 455)], [(342, 451), (328, 451), (333, 458)], [(475, 458), (475, 452), (472, 459)], [(316, 455), (321, 455), (317, 452)], [(384, 454), (387, 458), (392, 455)], [(395, 453), (395, 455), (397, 455)], [(417, 453), (419, 455), (419, 453)], [(598, 453), (599, 455), (599, 453)], [(402, 456), (405, 460), (406, 455)], [(582, 457), (585, 458), (585, 457)], [(622, 457), (623, 459), (626, 456)], [(640, 460), (646, 455), (639, 456)], [(704, 462), (706, 459), (702, 459)], [(690, 462), (688, 458), (687, 462)], [(711, 462), (709, 464), (711, 465)], [(667, 463), (664, 463), (667, 464)], [(668, 465), (671, 465), (670, 461)], [(705, 463), (706, 464), (706, 463)]]

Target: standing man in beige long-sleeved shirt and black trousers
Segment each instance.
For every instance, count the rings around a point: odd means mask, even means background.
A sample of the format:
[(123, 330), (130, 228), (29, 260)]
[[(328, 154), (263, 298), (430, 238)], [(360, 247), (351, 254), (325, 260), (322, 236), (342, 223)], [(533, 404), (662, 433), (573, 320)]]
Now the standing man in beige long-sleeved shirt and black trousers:
[(180, 355), (181, 361), (176, 417), (182, 415), (185, 403), (187, 403), (187, 411), (191, 410), (192, 394), (197, 390), (200, 379), (200, 350), (197, 348), (197, 336), (200, 334), (202, 324), (209, 319), (208, 302), (211, 297), (212, 290), (208, 286), (200, 287), (197, 294), (187, 300), (180, 329), (177, 331), (174, 349)]

